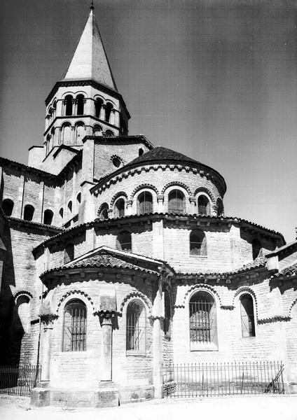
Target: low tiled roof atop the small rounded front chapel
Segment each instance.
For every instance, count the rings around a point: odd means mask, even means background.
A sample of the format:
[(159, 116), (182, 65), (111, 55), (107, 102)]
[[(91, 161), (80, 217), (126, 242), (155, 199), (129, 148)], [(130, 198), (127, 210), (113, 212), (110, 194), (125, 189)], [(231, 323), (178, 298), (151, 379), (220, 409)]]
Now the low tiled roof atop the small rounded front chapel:
[(156, 274), (151, 269), (146, 269), (143, 267), (139, 267), (138, 265), (131, 264), (131, 262), (126, 262), (121, 260), (120, 258), (116, 258), (113, 255), (109, 255), (108, 253), (99, 253), (97, 255), (92, 255), (89, 258), (85, 258), (83, 260), (79, 260), (77, 262), (69, 262), (62, 267), (55, 267), (52, 269), (47, 270), (41, 276), (44, 276), (50, 272), (55, 271), (64, 271), (67, 269), (73, 268), (88, 268), (88, 267), (111, 267), (111, 268), (120, 268), (120, 269), (135, 269), (141, 272), (146, 272), (149, 274)]

